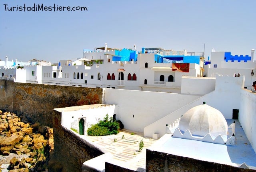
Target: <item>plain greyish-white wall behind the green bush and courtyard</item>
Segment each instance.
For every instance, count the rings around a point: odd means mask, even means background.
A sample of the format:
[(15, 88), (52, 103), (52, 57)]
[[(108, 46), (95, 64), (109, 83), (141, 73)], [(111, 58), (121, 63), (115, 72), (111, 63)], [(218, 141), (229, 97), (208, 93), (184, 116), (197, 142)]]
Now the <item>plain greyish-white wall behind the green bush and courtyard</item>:
[(199, 96), (164, 92), (104, 89), (104, 104), (116, 104), (117, 119), (124, 128), (144, 132), (144, 127), (174, 110), (196, 100)]

